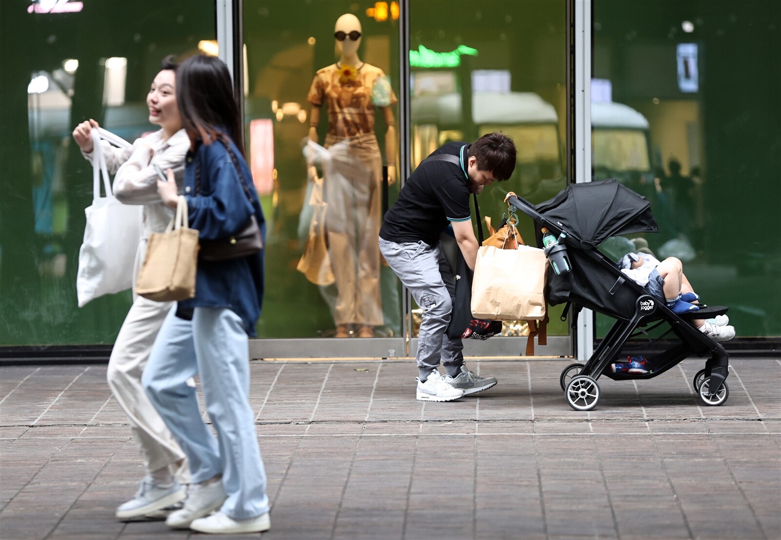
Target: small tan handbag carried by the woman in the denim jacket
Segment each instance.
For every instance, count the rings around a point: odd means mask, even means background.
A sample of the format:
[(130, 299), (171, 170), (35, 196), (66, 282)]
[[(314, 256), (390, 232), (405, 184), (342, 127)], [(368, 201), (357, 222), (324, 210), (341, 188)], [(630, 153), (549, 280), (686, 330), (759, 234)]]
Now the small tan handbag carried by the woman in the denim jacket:
[(136, 281), (136, 294), (157, 302), (194, 297), (198, 249), (198, 231), (190, 228), (187, 201), (180, 196), (177, 214), (166, 232), (149, 235), (144, 265)]

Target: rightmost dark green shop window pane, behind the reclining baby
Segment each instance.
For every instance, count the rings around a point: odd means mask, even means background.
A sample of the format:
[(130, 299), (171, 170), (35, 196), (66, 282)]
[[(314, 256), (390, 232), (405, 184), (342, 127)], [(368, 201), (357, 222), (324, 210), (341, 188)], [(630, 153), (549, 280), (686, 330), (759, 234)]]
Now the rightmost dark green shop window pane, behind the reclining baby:
[[(616, 258), (647, 243), (660, 260), (679, 258), (705, 304), (729, 306), (736, 341), (778, 339), (781, 9), (593, 5), (594, 179), (647, 197), (659, 227), (603, 250)], [(611, 322), (597, 322), (604, 336)]]

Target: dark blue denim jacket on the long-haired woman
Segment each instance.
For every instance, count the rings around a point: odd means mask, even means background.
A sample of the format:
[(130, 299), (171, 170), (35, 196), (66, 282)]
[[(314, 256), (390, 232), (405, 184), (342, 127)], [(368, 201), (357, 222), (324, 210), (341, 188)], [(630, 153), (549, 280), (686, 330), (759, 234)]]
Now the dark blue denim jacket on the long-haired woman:
[[(233, 141), (230, 147), (241, 167), (241, 176), (249, 188), (252, 203), (244, 193), (234, 162), (223, 144), (200, 144), (196, 151), (187, 152), (184, 169), (184, 197), (187, 199), (190, 226), (198, 230), (201, 240), (216, 240), (240, 231), (254, 213), (265, 243), (266, 220), (251, 172)], [(195, 195), (197, 162), (201, 164), (201, 186), (198, 195)], [(254, 337), (262, 300), (263, 251), (228, 261), (198, 259), (195, 297), (179, 302), (177, 315), (189, 318), (193, 307), (227, 307), (241, 317), (248, 336)]]

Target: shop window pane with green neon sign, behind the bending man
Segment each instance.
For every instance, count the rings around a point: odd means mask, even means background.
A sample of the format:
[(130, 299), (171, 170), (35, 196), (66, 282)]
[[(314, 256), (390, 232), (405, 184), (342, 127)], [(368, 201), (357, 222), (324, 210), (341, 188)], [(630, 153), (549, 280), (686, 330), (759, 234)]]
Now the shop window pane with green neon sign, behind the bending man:
[[(448, 141), (501, 131), (515, 140), (518, 162), (511, 179), (478, 197), (483, 215), (500, 222), (508, 191), (537, 204), (564, 189), (565, 2), (410, 0), (409, 9), (412, 169)], [(531, 219), (521, 216), (519, 229), (534, 245)], [(551, 335), (569, 332), (561, 310), (550, 309)], [(524, 323), (505, 324), (506, 336), (525, 332)]]

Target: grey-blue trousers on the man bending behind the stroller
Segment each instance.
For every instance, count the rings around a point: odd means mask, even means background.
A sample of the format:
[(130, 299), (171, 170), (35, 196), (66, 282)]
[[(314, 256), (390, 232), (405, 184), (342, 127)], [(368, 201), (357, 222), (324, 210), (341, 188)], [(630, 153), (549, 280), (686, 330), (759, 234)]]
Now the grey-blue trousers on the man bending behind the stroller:
[(439, 244), (380, 238), (380, 252), (423, 309), (415, 355), (420, 377), (426, 378), (440, 361), (448, 375), (455, 377), (464, 363), (464, 344), (461, 339), (448, 338), (455, 279)]

